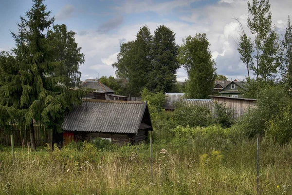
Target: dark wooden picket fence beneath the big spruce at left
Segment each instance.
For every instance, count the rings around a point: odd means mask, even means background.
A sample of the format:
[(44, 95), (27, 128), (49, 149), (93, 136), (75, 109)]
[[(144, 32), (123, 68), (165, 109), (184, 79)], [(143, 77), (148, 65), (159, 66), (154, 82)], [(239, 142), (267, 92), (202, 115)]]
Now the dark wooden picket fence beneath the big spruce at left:
[[(34, 125), (37, 146), (52, 143), (53, 131), (45, 129), (43, 125)], [(0, 128), (0, 145), (11, 145), (10, 135), (14, 136), (15, 146), (26, 146), (30, 144), (29, 129), (25, 125), (11, 125), (8, 129)]]

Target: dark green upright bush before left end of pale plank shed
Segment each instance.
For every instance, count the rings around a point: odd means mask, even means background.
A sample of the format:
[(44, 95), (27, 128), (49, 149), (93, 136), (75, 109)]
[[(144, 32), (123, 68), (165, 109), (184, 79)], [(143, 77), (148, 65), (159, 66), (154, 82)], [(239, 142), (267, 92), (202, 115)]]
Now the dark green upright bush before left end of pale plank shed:
[(223, 128), (230, 127), (233, 122), (234, 110), (227, 108), (226, 103), (214, 102), (214, 114), (216, 115), (215, 122), (220, 124)]

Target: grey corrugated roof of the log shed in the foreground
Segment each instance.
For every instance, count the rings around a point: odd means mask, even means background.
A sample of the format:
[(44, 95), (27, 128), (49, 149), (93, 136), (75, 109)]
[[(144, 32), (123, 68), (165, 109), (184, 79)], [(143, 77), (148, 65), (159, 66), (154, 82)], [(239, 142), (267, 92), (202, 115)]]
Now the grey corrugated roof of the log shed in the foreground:
[(138, 132), (147, 102), (96, 101), (74, 106), (62, 124), (65, 131)]

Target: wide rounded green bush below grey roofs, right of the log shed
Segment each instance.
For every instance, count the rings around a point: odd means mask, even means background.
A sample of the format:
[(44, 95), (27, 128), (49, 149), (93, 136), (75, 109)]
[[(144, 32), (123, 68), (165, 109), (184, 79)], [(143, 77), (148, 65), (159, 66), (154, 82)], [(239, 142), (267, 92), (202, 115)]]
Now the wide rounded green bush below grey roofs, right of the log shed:
[(213, 124), (213, 115), (207, 107), (188, 105), (184, 101), (177, 102), (175, 107), (174, 120), (178, 125), (206, 127)]

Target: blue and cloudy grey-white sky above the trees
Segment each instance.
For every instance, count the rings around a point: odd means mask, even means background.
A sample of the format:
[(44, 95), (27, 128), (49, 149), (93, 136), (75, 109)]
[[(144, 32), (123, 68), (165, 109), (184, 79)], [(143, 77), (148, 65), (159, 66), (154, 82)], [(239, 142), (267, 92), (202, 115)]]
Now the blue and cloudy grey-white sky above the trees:
[[(247, 0), (45, 0), (55, 24), (65, 24), (76, 33), (85, 63), (80, 66), (81, 79), (114, 76), (111, 64), (117, 61), (120, 44), (135, 39), (140, 27), (151, 33), (164, 24), (176, 34), (176, 43), (185, 37), (206, 33), (210, 51), (217, 63), (217, 73), (230, 80), (245, 79), (247, 70), (237, 52), (239, 25), (247, 28)], [(270, 0), (277, 32), (285, 33), (292, 0)], [(11, 31), (18, 32), (19, 17), (25, 16), (32, 0), (0, 0), (0, 51), (15, 47)], [(180, 68), (177, 80), (187, 78)]]

